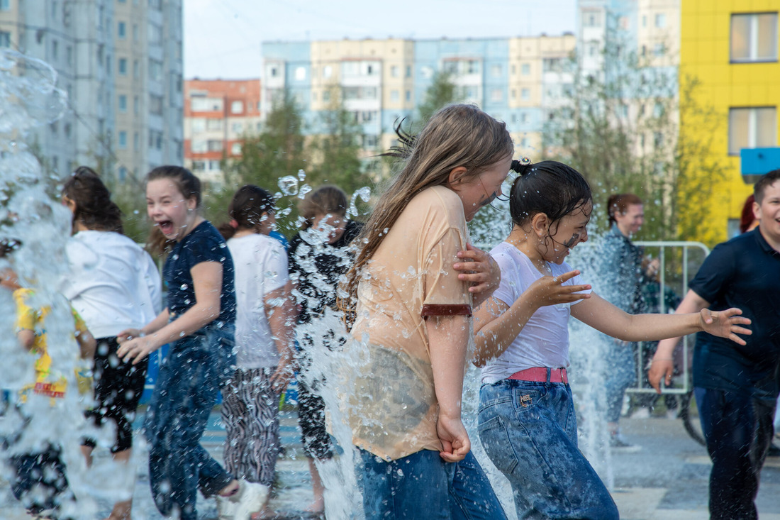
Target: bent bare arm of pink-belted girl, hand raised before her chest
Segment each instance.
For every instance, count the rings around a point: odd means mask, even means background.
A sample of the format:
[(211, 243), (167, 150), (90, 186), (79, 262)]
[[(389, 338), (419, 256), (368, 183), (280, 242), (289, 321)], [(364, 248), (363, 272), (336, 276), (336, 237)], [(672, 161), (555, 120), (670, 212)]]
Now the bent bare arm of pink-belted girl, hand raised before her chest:
[(590, 285), (563, 285), (578, 274), (579, 271), (570, 271), (557, 277), (542, 276), (523, 291), (511, 307), (491, 297), (477, 308), (474, 312), (474, 341), (477, 344), (474, 365), (483, 366), (503, 354), (539, 308), (590, 297), (590, 294), (581, 293), (590, 289)]

